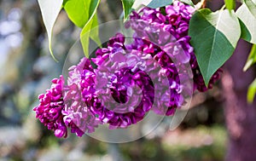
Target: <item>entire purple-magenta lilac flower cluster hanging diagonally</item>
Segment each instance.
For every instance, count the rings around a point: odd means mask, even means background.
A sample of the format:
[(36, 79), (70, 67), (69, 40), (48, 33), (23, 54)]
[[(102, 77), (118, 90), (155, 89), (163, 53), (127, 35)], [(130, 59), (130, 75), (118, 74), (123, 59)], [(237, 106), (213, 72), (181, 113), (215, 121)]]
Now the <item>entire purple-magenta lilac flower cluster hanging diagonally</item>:
[[(57, 137), (67, 137), (67, 128), (78, 136), (94, 132), (99, 124), (127, 128), (149, 110), (173, 115), (185, 103), (186, 91), (193, 90), (186, 89), (180, 78), (187, 74), (181, 70), (185, 64), (192, 69), (194, 90), (207, 90), (189, 44), (189, 20), (194, 12), (178, 1), (134, 11), (125, 24), (134, 31), (132, 43), (126, 44), (125, 36), (118, 33), (107, 47), (96, 50), (94, 58), (83, 58), (70, 67), (67, 85), (62, 77), (54, 79), (46, 94), (39, 95), (36, 117)], [(209, 89), (219, 72), (212, 76)], [(189, 79), (183, 77), (183, 81)]]

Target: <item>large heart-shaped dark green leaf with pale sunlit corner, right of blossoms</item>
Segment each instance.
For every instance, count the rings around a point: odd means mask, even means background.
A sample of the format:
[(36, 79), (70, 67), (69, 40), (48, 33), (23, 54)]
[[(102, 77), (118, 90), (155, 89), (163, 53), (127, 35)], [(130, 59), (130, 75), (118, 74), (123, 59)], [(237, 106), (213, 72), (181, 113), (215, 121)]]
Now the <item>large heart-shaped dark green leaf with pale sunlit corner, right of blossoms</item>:
[(195, 49), (206, 85), (214, 72), (233, 54), (241, 35), (239, 20), (234, 11), (201, 9), (189, 24), (190, 43)]

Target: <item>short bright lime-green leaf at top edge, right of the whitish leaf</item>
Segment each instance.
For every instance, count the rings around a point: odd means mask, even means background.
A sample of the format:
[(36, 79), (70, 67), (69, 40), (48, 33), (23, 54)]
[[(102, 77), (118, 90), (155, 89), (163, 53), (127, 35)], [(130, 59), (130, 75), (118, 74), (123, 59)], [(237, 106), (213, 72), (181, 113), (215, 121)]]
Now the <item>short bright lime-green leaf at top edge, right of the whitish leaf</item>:
[(91, 1), (93, 0), (67, 0), (63, 3), (68, 18), (73, 21), (76, 26), (83, 28), (90, 19), (88, 10), (90, 9)]

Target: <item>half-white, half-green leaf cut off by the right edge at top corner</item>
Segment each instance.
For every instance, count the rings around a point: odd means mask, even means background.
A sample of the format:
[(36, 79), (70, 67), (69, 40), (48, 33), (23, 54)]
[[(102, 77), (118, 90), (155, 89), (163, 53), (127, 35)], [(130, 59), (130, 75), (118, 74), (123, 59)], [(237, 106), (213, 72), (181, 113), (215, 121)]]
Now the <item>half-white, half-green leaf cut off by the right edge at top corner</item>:
[(247, 1), (236, 10), (236, 15), (240, 19), (241, 38), (249, 43), (256, 43), (256, 18), (253, 15), (252, 8), (256, 9), (255, 4), (253, 5), (253, 3)]

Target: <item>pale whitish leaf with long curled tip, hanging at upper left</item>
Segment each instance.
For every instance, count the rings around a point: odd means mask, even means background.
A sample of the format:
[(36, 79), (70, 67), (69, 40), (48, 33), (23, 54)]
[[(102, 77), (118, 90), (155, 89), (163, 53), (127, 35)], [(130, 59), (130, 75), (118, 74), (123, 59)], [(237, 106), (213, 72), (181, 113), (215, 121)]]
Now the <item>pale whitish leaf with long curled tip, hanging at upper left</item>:
[(52, 49), (51, 49), (51, 40), (52, 40), (52, 29), (55, 24), (55, 20), (58, 17), (58, 14), (61, 11), (61, 6), (63, 3), (63, 0), (38, 0), (39, 7), (41, 9), (42, 17), (44, 20), (44, 26), (46, 28), (48, 40), (49, 40), (49, 52), (50, 55), (55, 60), (55, 56), (53, 55)]

